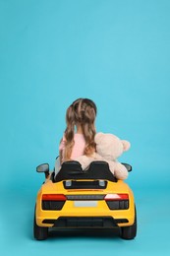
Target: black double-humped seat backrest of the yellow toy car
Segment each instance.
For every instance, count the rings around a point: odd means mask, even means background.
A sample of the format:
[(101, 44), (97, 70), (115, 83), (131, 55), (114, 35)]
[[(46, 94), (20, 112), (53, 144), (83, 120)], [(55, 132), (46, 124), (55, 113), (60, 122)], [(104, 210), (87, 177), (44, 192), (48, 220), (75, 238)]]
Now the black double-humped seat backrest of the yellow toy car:
[(116, 182), (117, 179), (111, 173), (106, 161), (92, 161), (86, 170), (82, 169), (79, 161), (71, 160), (63, 162), (54, 182), (67, 179), (105, 179)]

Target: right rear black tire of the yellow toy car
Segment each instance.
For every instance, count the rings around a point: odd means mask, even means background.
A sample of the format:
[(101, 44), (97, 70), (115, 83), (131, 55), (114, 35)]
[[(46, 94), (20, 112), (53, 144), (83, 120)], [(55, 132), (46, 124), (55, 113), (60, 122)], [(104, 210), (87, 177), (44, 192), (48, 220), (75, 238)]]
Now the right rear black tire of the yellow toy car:
[(121, 237), (123, 239), (134, 239), (137, 235), (137, 211), (135, 208), (135, 222), (130, 226), (121, 227)]

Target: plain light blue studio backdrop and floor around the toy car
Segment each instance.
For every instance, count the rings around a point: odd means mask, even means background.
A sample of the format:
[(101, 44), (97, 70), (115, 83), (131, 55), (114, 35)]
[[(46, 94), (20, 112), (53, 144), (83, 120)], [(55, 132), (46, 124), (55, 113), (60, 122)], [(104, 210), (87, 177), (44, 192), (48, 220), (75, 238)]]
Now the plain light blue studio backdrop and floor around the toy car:
[[(169, 255), (169, 13), (168, 0), (0, 0), (3, 255)], [(97, 131), (132, 143), (121, 160), (134, 168), (133, 241), (84, 232), (32, 238), (43, 181), (35, 166), (53, 167), (66, 108), (80, 96), (97, 104)]]

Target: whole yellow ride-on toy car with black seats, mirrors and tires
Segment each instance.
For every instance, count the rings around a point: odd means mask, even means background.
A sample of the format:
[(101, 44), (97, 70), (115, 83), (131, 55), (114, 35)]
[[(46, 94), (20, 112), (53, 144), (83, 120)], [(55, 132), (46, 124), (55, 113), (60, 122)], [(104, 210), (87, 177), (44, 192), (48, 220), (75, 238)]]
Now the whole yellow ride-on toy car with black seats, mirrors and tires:
[[(131, 165), (124, 163), (130, 171)], [(55, 176), (48, 163), (36, 167), (45, 173), (37, 193), (34, 238), (48, 237), (49, 227), (119, 228), (120, 236), (137, 234), (134, 195), (128, 184), (117, 180), (105, 161), (93, 161), (83, 170), (78, 161), (66, 161)]]

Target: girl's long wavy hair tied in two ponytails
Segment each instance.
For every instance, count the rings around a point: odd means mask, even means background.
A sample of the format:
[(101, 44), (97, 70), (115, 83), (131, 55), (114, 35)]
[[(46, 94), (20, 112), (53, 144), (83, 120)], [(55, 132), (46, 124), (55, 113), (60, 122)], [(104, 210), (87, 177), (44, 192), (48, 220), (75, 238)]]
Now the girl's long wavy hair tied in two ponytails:
[(66, 123), (67, 127), (65, 130), (65, 150), (64, 160), (70, 160), (72, 149), (75, 144), (74, 134), (75, 126), (81, 125), (83, 134), (85, 137), (85, 155), (89, 156), (95, 151), (95, 116), (97, 108), (95, 103), (88, 98), (76, 99), (67, 109), (66, 112)]

